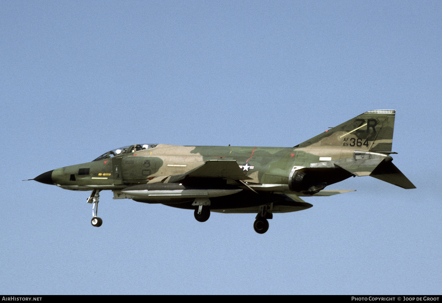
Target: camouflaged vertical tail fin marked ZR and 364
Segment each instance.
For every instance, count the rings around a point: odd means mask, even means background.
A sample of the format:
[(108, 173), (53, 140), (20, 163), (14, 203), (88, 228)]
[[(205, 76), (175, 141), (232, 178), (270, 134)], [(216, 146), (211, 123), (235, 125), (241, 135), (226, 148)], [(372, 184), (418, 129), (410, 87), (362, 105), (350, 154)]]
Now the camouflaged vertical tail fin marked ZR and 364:
[(395, 112), (366, 111), (295, 147), (341, 147), (391, 152)]

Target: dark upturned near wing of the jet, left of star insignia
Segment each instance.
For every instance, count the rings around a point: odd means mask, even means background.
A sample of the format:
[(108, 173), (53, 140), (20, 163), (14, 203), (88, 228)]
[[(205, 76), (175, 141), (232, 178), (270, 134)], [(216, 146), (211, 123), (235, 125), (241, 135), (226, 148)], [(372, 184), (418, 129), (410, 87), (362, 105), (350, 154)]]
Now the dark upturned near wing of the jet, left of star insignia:
[(225, 178), (232, 180), (251, 180), (246, 176), (236, 160), (209, 160), (203, 165), (180, 175), (171, 176), (168, 183), (178, 182), (186, 176), (194, 178)]

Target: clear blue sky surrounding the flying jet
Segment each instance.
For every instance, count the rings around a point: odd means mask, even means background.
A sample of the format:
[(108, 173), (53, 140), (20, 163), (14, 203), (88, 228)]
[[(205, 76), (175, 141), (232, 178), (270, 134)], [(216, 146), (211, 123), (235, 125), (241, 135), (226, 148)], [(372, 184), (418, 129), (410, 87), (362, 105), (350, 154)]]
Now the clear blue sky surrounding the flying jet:
[[(0, 292), (440, 294), (440, 1), (2, 1)], [(134, 143), (294, 146), (395, 109), (404, 190), (371, 177), (275, 214), (31, 179)]]

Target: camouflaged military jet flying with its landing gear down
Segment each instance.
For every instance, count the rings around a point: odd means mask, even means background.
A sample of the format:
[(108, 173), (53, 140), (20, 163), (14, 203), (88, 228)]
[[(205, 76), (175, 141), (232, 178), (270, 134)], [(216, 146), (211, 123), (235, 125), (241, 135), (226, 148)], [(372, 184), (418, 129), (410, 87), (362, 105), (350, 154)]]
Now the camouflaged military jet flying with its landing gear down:
[(349, 192), (324, 188), (351, 176), (415, 188), (392, 163), (394, 118), (394, 110), (367, 111), (293, 147), (134, 144), (30, 180), (91, 190), (93, 226), (103, 222), (99, 192), (111, 190), (114, 199), (193, 209), (200, 222), (210, 211), (256, 213), (263, 234), (273, 213), (312, 207), (301, 196)]

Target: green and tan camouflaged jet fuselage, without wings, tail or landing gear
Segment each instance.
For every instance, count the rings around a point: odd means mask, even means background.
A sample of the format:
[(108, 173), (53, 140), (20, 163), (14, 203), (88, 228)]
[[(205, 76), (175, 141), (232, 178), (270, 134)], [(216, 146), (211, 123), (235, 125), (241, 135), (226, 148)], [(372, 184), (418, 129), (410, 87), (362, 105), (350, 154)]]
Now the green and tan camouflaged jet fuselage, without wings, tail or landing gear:
[[(168, 176), (186, 173), (206, 161), (234, 160), (248, 177), (247, 184), (258, 191), (300, 192), (293, 188), (294, 170), (308, 169), (315, 163), (351, 158), (353, 154), (354, 150), (339, 148), (157, 144), (153, 148), (65, 166), (45, 174), (48, 178), (50, 173), (52, 184), (65, 189), (121, 190), (128, 186), (152, 182), (154, 178), (166, 179)], [(322, 172), (318, 169), (316, 171), (318, 173), (315, 174), (313, 183), (328, 185), (351, 176), (338, 167), (328, 167)], [(318, 174), (323, 176), (321, 180), (317, 180), (321, 177)], [(50, 181), (46, 183), (51, 184)]]

